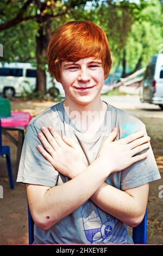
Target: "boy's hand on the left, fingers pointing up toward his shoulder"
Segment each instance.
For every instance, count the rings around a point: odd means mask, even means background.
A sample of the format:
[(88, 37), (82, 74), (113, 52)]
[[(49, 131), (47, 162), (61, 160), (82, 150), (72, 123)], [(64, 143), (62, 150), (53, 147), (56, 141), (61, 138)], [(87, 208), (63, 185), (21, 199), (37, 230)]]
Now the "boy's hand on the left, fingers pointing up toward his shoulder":
[(43, 133), (37, 136), (45, 149), (41, 145), (37, 145), (37, 149), (58, 172), (73, 179), (86, 168), (81, 151), (73, 139), (61, 138), (51, 126), (48, 129), (42, 126), (41, 131)]

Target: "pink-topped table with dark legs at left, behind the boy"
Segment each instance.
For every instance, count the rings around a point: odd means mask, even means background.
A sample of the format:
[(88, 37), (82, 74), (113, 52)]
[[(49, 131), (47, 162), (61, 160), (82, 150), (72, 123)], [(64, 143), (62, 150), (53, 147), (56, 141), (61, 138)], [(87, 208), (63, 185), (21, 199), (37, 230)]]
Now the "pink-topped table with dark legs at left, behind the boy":
[[(8, 137), (17, 147), (16, 171), (20, 162), (22, 145), (24, 141), (24, 132), (32, 116), (29, 112), (11, 111), (11, 117), (1, 118), (2, 133)], [(18, 139), (15, 139), (8, 131), (18, 131)]]

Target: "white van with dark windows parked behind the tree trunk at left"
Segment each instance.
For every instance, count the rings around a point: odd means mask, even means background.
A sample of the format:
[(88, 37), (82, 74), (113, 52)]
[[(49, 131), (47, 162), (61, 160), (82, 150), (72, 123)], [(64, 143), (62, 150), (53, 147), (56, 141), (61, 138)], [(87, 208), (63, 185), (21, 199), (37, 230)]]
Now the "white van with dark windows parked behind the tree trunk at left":
[[(46, 73), (47, 89), (53, 87), (52, 78)], [(61, 83), (54, 80), (55, 87), (65, 96)], [(36, 68), (30, 63), (0, 63), (0, 93), (5, 97), (20, 96), (24, 89), (32, 91), (36, 86)]]

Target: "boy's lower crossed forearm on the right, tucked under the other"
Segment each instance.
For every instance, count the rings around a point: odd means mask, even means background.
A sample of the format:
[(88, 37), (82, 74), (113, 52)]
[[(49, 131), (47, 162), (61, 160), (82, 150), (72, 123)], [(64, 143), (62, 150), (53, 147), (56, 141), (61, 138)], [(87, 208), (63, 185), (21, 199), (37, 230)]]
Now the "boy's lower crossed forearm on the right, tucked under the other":
[(130, 194), (103, 182), (90, 199), (99, 208), (131, 227), (139, 224), (140, 206)]

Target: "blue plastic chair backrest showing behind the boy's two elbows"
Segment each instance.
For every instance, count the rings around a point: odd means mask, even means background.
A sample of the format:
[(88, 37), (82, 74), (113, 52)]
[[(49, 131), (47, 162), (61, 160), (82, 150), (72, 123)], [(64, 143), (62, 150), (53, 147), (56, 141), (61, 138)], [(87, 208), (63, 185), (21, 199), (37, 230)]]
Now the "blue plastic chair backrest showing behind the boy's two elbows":
[[(34, 241), (34, 221), (32, 215), (30, 214), (28, 206), (28, 236), (29, 236), (29, 245), (32, 245)], [(133, 228), (133, 241), (134, 244), (146, 245), (147, 243), (147, 210), (145, 217), (142, 222)]]

